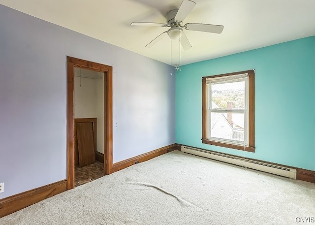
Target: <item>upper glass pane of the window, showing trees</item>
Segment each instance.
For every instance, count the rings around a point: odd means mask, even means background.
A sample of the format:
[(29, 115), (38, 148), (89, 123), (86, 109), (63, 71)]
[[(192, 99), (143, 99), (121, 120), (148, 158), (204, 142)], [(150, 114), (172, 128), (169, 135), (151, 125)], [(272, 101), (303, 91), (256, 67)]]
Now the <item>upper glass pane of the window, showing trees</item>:
[(212, 109), (244, 109), (245, 81), (212, 84)]

